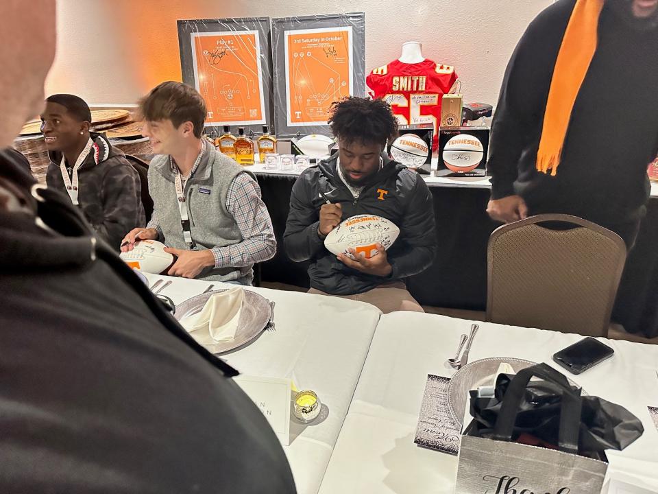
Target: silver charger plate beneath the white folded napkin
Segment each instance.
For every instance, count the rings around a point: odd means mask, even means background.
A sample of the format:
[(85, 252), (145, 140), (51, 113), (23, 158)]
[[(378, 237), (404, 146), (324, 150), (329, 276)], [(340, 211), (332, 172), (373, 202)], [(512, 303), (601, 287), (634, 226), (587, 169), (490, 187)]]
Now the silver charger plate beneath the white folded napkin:
[[(206, 292), (188, 298), (176, 306), (174, 317), (180, 321), (186, 317), (198, 314), (204, 308), (210, 296), (221, 292), (226, 292), (226, 290), (213, 290), (212, 292)], [(235, 332), (234, 340), (204, 345), (211, 353), (226, 353), (249, 343), (269, 323), (272, 316), (272, 309), (267, 298), (250, 290), (245, 290), (244, 292), (245, 298), (242, 301), (240, 320), (238, 321), (238, 329)]]

